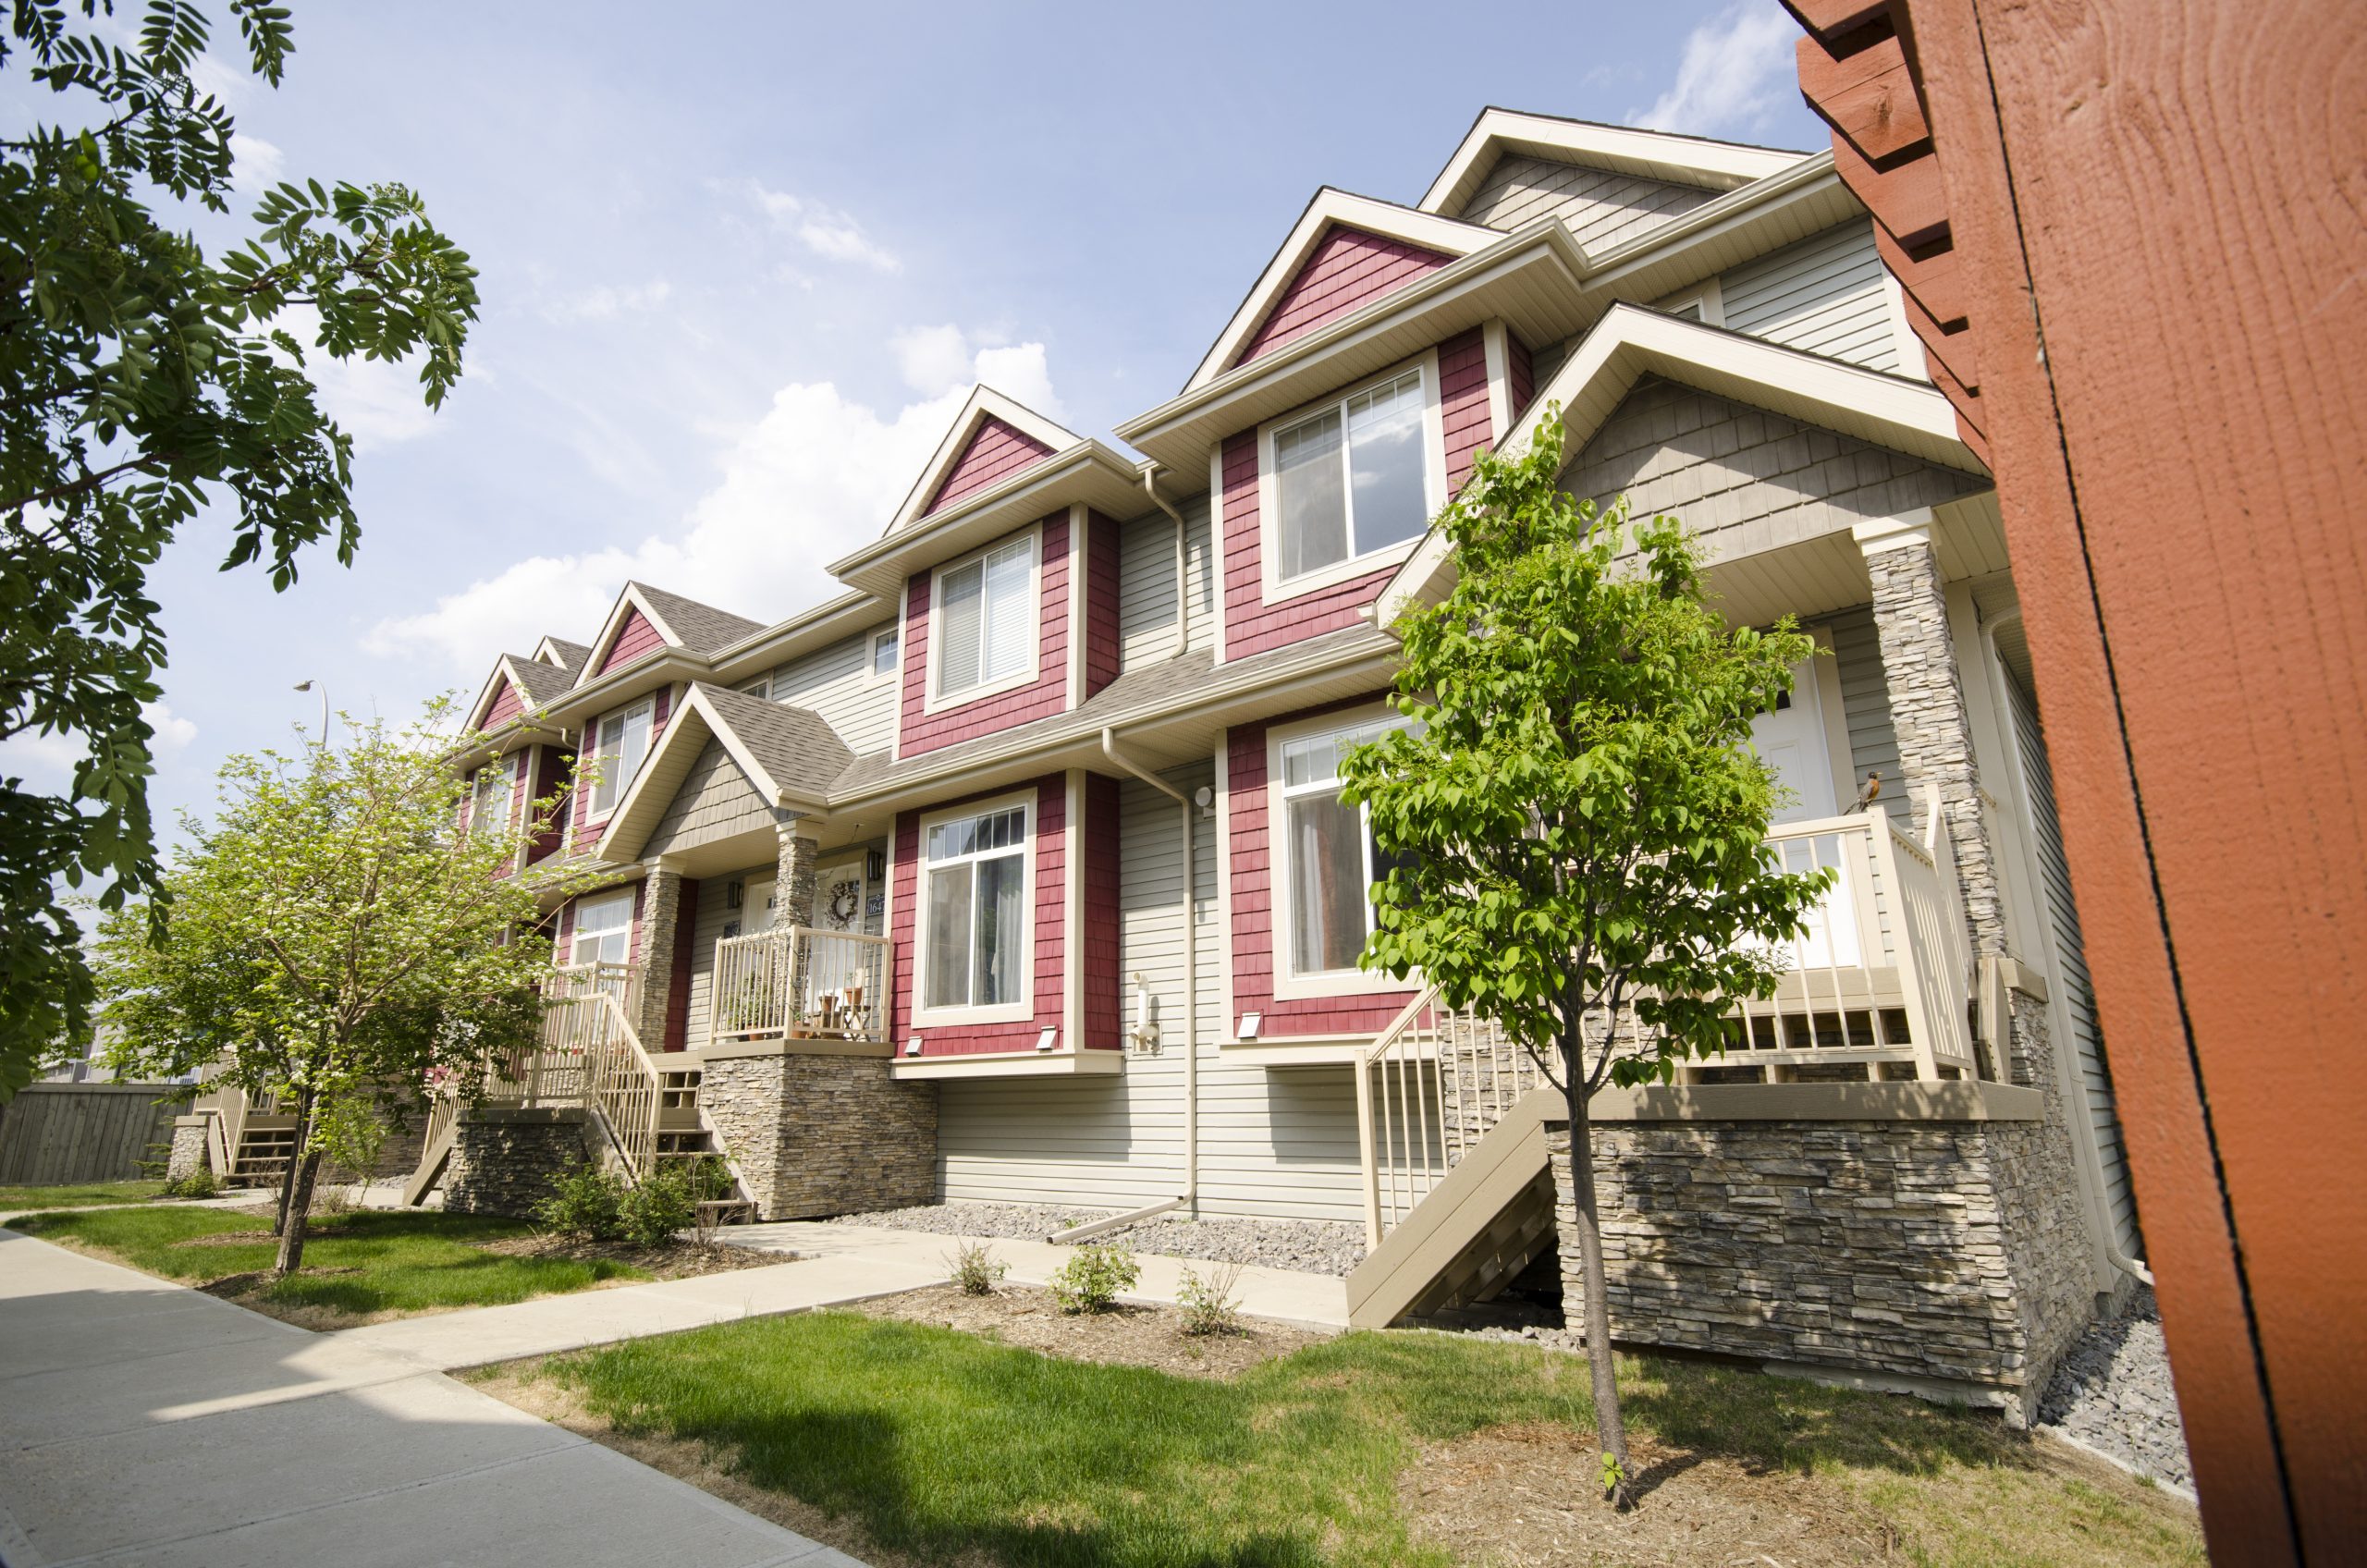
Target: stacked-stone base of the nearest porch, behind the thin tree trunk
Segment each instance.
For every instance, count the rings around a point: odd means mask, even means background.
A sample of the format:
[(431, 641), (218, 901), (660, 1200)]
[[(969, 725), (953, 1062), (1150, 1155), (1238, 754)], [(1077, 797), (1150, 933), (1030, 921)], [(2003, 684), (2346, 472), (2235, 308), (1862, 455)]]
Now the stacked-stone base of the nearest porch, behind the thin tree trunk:
[[(2036, 1416), (2092, 1307), (2069, 1168), (2038, 1120), (1595, 1123), (1612, 1334), (1995, 1390)], [(1569, 1130), (1550, 1127), (1574, 1236)], [(1584, 1303), (1562, 1248), (1565, 1322)]]

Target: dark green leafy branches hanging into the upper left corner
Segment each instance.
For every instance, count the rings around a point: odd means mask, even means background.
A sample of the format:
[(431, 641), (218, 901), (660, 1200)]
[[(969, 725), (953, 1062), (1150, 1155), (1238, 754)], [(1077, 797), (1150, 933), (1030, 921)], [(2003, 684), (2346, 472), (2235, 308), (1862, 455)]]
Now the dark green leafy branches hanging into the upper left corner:
[[(289, 12), (225, 9), (244, 64), (279, 85)], [(149, 571), (208, 507), (225, 571), (258, 561), (284, 590), (320, 542), (350, 564), (353, 441), (305, 358), (417, 358), (440, 407), (478, 303), (466, 253), (400, 185), (267, 189), (218, 258), (168, 227), (166, 201), (230, 211), (234, 126), (194, 81), (199, 5), (151, 0), (128, 33), (111, 0), (19, 0), (0, 38), (0, 69), (24, 69), (12, 85), (54, 104), (0, 137), (0, 739), (83, 744), (62, 793), (0, 777), (0, 1106), (90, 1033), (62, 883), (163, 914)]]

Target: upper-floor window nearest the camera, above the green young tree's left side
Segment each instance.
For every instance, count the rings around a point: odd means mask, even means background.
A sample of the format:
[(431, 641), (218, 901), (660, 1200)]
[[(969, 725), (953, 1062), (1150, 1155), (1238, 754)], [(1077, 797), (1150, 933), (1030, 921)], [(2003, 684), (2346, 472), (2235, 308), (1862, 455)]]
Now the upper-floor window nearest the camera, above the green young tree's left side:
[(1439, 505), (1430, 369), (1418, 365), (1266, 433), (1271, 583), (1418, 540)]

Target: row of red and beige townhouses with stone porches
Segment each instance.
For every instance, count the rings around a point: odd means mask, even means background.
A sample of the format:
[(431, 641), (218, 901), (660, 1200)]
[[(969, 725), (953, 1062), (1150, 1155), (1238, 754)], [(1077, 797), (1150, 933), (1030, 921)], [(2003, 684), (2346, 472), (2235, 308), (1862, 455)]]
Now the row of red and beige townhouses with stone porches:
[(980, 388), (826, 604), (634, 583), (504, 656), (473, 810), (596, 758), (525, 857), (601, 886), (542, 1080), (414, 1196), (589, 1137), (712, 1149), (762, 1217), (1347, 1220), (1359, 1322), (1550, 1270), (1557, 1101), (1356, 969), (1335, 765), (1397, 722), (1430, 519), (1560, 407), (1569, 493), (1813, 630), (1756, 744), (1782, 857), (1842, 869), (1723, 1059), (1602, 1097), (1614, 1326), (2019, 1412), (2140, 1236), (1995, 493), (1886, 244), (1830, 154), (1489, 109), (1413, 206), (1321, 189), (1131, 452)]

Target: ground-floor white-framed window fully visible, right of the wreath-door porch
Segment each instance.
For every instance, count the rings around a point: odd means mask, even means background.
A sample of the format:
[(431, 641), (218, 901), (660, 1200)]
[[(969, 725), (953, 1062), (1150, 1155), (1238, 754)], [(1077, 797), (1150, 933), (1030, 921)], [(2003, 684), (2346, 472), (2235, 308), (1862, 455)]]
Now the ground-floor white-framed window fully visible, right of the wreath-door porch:
[(923, 829), (923, 1007), (1025, 1004), (1027, 820), (999, 805)]

